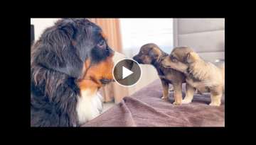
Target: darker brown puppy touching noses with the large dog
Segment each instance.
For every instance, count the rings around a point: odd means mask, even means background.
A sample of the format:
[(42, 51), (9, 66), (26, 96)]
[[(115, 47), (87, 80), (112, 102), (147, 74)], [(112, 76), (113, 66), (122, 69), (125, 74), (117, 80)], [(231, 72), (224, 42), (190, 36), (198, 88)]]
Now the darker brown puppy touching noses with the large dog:
[(168, 54), (160, 50), (157, 45), (149, 43), (143, 45), (139, 50), (139, 54), (135, 55), (133, 59), (139, 64), (151, 64), (156, 68), (163, 86), (162, 99), (167, 100), (169, 97), (169, 83), (174, 86), (174, 104), (178, 105), (182, 101), (181, 88), (182, 83), (186, 82), (186, 77), (179, 71), (165, 68), (162, 60), (166, 57), (168, 57)]

